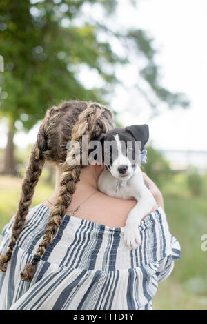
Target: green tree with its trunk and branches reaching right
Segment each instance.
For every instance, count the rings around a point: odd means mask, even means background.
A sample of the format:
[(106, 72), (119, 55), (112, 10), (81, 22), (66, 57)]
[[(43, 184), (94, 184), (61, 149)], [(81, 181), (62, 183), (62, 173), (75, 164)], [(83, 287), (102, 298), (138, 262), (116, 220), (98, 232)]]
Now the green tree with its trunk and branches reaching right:
[[(83, 10), (86, 3), (98, 4), (115, 17), (115, 0), (0, 2), (0, 54), (5, 63), (0, 75), (0, 117), (4, 114), (9, 120), (3, 172), (15, 170), (13, 137), (17, 125), (30, 130), (43, 118), (48, 105), (64, 99), (105, 102), (106, 94), (119, 82), (115, 67), (128, 63), (128, 52), (125, 57), (115, 54), (110, 41), (99, 40), (100, 32), (115, 37), (126, 48), (134, 46), (144, 55), (147, 63), (141, 75), (157, 98), (170, 107), (188, 105), (183, 94), (172, 94), (159, 85), (152, 39), (143, 30), (115, 32), (99, 21), (88, 21)], [(84, 87), (77, 77), (82, 64), (97, 71), (105, 85)]]

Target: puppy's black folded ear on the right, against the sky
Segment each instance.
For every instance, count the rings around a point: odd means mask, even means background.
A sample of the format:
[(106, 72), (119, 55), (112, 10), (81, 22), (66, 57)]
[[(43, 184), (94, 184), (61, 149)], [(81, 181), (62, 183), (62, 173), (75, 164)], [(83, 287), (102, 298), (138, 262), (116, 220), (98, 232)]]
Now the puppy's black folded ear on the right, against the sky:
[(148, 125), (131, 125), (124, 128), (126, 132), (130, 133), (135, 141), (141, 141), (141, 151), (144, 149), (149, 139), (149, 127)]

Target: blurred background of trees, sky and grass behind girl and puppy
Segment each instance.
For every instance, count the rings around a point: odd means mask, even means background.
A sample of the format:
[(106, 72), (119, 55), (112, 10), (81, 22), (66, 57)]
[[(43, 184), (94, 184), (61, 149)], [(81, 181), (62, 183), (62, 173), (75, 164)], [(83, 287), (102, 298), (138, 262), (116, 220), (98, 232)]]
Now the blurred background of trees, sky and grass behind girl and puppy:
[[(164, 194), (182, 258), (155, 310), (207, 309), (206, 0), (1, 0), (0, 231), (46, 109), (99, 101), (118, 126), (148, 123), (143, 170)], [(46, 165), (32, 206), (55, 185)]]

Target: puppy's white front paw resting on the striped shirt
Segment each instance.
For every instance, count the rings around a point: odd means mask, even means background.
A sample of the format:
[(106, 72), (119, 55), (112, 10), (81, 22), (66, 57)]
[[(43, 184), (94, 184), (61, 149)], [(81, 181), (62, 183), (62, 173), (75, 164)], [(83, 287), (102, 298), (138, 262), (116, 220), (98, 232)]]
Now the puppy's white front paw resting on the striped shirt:
[(137, 224), (126, 225), (124, 227), (124, 243), (129, 249), (137, 249), (141, 244), (141, 236)]

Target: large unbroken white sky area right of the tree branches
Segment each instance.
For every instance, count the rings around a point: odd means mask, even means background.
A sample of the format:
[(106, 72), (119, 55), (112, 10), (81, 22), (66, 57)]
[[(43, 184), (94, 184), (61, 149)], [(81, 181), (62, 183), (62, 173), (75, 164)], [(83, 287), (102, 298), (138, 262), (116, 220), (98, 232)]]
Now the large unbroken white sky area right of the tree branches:
[[(143, 27), (155, 38), (163, 85), (168, 90), (185, 92), (191, 100), (188, 110), (163, 109), (161, 115), (150, 120), (150, 139), (157, 148), (207, 150), (207, 1), (137, 2), (137, 12), (131, 10), (127, 16), (134, 26)], [(120, 10), (119, 20), (125, 17), (126, 10)], [(124, 112), (119, 119), (124, 125), (146, 123), (146, 114), (135, 119), (135, 115)]]

